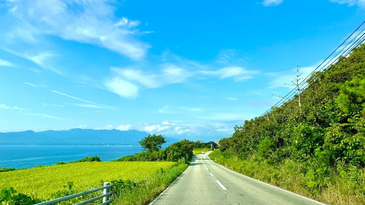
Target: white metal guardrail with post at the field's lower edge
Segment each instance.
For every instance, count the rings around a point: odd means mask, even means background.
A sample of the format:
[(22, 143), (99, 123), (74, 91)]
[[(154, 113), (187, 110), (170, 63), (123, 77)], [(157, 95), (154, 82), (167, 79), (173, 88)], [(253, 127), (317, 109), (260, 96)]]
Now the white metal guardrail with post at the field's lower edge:
[(55, 203), (58, 203), (58, 202), (61, 202), (61, 201), (66, 201), (66, 200), (69, 200), (69, 199), (72, 199), (72, 198), (76, 198), (76, 197), (79, 197), (79, 196), (83, 196), (85, 194), (97, 192), (97, 191), (102, 190), (102, 189), (104, 189), (104, 194), (103, 195), (98, 196), (98, 197), (94, 197), (92, 199), (83, 201), (83, 202), (78, 203), (78, 204), (75, 204), (75, 205), (84, 205), (84, 204), (93, 202), (95, 200), (98, 200), (100, 198), (103, 198), (103, 203), (101, 203), (99, 205), (107, 205), (107, 204), (109, 204), (109, 203), (111, 203), (113, 201), (112, 198), (109, 199), (109, 195), (113, 193), (113, 192), (109, 192), (109, 188), (112, 187), (112, 186), (114, 186), (114, 184), (110, 184), (109, 182), (104, 182), (104, 186), (102, 186), (102, 187), (99, 187), (99, 188), (96, 188), (96, 189), (92, 189), (92, 190), (88, 190), (86, 192), (72, 194), (70, 196), (56, 198), (54, 200), (45, 201), (45, 202), (42, 202), (42, 203), (39, 203), (39, 204), (35, 204), (35, 205), (50, 205), (50, 204), (55, 204)]

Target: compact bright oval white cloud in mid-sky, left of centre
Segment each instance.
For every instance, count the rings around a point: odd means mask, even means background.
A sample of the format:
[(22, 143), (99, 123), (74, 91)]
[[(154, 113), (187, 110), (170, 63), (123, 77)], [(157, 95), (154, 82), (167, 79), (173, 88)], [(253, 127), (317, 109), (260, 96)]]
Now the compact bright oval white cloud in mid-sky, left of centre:
[(105, 81), (104, 86), (111, 92), (125, 98), (134, 99), (138, 96), (138, 87), (128, 81), (120, 79), (119, 77)]

